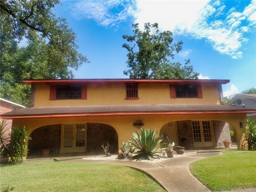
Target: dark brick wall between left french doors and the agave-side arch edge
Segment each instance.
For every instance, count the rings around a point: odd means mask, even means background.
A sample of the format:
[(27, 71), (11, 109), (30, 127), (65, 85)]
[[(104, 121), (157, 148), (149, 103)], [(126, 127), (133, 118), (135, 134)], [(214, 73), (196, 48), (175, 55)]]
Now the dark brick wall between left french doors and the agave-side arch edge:
[(110, 145), (111, 154), (118, 153), (118, 136), (116, 130), (107, 124), (88, 123), (87, 124), (87, 152), (90, 154), (104, 154), (102, 144)]

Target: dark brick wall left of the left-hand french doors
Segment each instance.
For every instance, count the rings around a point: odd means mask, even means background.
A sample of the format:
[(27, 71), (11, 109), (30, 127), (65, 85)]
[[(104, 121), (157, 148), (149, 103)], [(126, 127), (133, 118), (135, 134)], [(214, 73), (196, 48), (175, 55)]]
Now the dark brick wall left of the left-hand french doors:
[(28, 155), (42, 154), (41, 149), (49, 148), (50, 154), (60, 153), (61, 124), (42, 126), (34, 130), (28, 141)]

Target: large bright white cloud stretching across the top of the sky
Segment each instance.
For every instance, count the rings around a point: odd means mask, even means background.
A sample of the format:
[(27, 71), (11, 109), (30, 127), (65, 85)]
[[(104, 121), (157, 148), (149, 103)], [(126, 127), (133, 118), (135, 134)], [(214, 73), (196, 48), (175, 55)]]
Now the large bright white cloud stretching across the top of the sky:
[(75, 3), (72, 10), (77, 18), (93, 19), (102, 26), (115, 26), (133, 17), (134, 23), (144, 30), (144, 23), (157, 22), (160, 31), (204, 39), (221, 54), (242, 58), (242, 44), (248, 41), (244, 33), (256, 28), (256, 1), (250, 1), (243, 10), (237, 8), (236, 2), (229, 8), (225, 2), (86, 0)]

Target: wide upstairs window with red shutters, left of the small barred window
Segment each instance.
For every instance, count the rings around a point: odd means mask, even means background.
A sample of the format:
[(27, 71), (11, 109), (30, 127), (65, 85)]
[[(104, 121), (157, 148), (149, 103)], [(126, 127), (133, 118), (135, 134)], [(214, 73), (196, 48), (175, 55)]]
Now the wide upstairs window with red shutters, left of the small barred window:
[(50, 100), (87, 99), (86, 85), (51, 85)]

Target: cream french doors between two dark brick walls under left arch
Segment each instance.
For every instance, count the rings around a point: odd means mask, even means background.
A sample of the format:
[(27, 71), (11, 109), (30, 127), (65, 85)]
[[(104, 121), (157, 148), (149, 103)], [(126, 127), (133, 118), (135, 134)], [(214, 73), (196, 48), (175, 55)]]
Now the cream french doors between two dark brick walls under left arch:
[(86, 124), (62, 125), (61, 153), (86, 152)]

